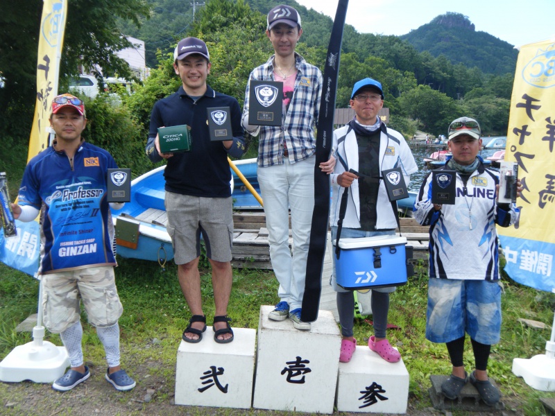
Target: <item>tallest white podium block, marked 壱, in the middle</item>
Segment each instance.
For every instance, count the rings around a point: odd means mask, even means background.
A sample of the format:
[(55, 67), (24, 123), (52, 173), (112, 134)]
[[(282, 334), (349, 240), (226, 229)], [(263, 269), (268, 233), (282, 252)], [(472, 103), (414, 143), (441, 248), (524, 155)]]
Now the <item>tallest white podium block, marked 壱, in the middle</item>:
[(319, 311), (310, 331), (287, 319), (268, 320), (261, 306), (253, 407), (333, 413), (341, 336), (330, 311)]

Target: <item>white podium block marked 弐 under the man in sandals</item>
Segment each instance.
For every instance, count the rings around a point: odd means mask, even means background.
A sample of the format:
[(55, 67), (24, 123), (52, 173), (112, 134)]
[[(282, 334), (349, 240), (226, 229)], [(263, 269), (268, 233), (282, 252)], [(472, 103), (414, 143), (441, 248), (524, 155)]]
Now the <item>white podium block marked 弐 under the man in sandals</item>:
[(200, 343), (181, 341), (176, 365), (176, 404), (250, 408), (255, 370), (255, 329), (233, 328), (234, 340), (214, 341), (207, 327)]

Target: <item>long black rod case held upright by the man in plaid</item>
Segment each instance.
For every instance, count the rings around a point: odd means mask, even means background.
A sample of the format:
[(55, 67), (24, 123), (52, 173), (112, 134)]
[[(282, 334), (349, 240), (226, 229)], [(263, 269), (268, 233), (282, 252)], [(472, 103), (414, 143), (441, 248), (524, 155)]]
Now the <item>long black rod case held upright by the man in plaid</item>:
[(318, 318), (322, 270), (324, 266), (327, 227), (330, 220), (330, 176), (318, 167), (330, 158), (334, 128), (335, 99), (343, 26), (347, 15), (348, 0), (339, 0), (332, 27), (330, 44), (327, 46), (327, 59), (323, 73), (323, 88), (320, 113), (316, 125), (316, 161), (314, 163), (314, 209), (310, 229), (310, 242), (305, 277), (305, 295), (302, 297), (300, 319), (312, 322)]

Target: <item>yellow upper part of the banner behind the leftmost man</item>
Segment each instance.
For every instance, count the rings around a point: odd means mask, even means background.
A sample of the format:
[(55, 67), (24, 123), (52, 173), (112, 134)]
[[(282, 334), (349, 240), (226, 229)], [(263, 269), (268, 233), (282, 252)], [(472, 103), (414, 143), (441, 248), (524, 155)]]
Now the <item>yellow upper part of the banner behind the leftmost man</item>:
[(27, 162), (49, 146), (52, 99), (58, 95), (60, 56), (64, 41), (67, 0), (44, 0), (37, 59), (37, 101)]

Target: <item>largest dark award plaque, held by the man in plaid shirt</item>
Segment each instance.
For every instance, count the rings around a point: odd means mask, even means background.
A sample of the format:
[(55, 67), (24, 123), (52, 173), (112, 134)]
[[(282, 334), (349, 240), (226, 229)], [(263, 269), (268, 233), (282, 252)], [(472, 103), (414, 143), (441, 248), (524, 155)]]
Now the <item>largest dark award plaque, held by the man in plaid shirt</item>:
[(250, 81), (248, 123), (251, 125), (282, 125), (283, 83)]

